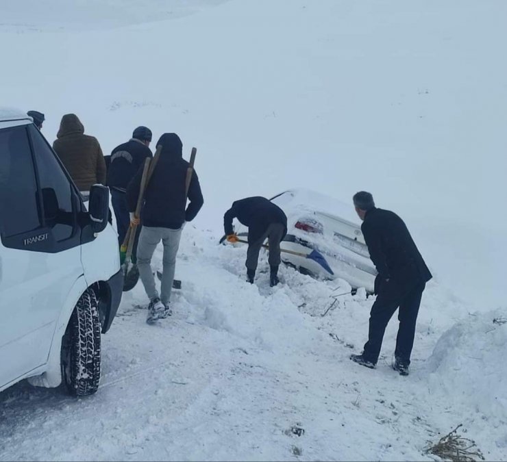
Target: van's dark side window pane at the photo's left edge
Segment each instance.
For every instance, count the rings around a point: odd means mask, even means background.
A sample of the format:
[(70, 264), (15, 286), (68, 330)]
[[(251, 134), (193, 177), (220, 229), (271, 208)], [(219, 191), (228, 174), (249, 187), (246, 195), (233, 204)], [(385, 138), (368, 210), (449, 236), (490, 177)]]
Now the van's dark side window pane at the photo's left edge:
[(34, 162), (25, 125), (0, 129), (1, 237), (41, 226)]

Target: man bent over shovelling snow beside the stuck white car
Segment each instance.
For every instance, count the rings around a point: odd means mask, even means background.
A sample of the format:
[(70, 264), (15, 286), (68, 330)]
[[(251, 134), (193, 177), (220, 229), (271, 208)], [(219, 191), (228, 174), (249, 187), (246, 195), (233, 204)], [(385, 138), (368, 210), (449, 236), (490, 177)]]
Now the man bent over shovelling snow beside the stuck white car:
[(223, 216), (223, 227), (227, 241), (237, 242), (238, 237), (232, 229), (233, 218), (248, 227), (247, 281), (253, 283), (262, 244), (269, 243), (269, 285), (279, 283), (280, 242), (287, 233), (287, 217), (284, 211), (267, 198), (255, 196), (236, 201)]

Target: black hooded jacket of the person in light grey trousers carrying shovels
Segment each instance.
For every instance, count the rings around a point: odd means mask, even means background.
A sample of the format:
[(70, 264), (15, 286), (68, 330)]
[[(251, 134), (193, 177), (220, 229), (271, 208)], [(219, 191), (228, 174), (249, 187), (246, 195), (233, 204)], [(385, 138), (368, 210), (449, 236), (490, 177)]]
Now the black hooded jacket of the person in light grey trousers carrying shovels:
[[(182, 142), (175, 133), (164, 133), (159, 144), (162, 151), (145, 192), (143, 226), (180, 229), (185, 221), (195, 218), (204, 203), (201, 185), (194, 170), (188, 189), (190, 203), (185, 209), (185, 179), (190, 164), (182, 157)], [(143, 166), (127, 187), (129, 211), (136, 209), (141, 177)]]

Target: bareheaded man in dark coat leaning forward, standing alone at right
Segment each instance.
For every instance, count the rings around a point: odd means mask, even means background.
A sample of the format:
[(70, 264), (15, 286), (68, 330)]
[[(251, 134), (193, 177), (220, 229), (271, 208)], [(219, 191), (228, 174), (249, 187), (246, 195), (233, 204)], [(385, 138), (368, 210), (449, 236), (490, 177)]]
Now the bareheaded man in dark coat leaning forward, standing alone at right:
[(351, 355), (350, 359), (375, 368), (386, 326), (399, 307), (393, 368), (401, 375), (408, 375), (421, 296), (432, 274), (399, 216), (376, 208), (369, 192), (358, 192), (353, 200), (378, 275), (375, 278), (377, 299), (371, 307), (368, 342), (364, 344), (361, 355)]

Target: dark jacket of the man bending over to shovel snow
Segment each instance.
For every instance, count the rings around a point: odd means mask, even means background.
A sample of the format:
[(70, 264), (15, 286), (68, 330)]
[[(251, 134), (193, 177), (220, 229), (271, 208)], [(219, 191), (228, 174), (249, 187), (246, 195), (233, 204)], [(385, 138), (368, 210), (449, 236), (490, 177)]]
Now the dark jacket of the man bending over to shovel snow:
[(283, 224), (284, 235), (287, 233), (287, 217), (284, 211), (265, 197), (247, 197), (232, 203), (232, 207), (223, 216), (225, 235), (234, 232), (233, 218), (238, 218), (240, 223), (248, 227), (248, 242), (259, 240), (271, 223)]

